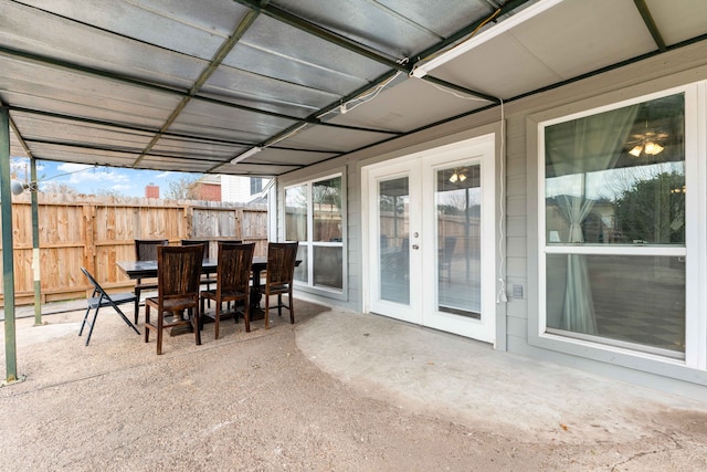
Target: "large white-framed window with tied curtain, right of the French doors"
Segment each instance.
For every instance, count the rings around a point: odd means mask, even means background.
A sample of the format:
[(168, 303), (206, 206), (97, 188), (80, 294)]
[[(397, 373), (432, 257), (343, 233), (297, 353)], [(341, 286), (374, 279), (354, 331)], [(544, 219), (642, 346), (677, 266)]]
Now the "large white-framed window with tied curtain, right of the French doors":
[(687, 238), (700, 217), (686, 218), (698, 188), (685, 130), (684, 92), (540, 126), (541, 334), (677, 359), (697, 349), (687, 274), (705, 243)]

